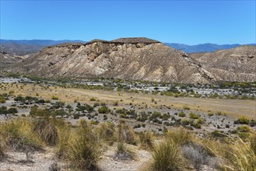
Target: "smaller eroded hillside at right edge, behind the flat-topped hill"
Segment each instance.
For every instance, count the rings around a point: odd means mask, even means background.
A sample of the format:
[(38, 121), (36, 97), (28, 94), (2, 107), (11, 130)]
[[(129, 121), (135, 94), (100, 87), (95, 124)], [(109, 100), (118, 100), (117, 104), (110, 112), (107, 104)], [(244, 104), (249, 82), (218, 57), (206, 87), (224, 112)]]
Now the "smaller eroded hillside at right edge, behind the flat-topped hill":
[(256, 81), (256, 46), (241, 46), (214, 53), (191, 54), (217, 80)]

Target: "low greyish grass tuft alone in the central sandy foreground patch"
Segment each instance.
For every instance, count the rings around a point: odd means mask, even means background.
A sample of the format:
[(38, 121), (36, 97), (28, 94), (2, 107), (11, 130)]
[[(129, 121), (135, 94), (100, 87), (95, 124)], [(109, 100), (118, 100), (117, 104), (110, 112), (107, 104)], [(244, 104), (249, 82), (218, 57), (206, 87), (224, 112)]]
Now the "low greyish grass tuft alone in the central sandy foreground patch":
[(118, 142), (117, 152), (115, 157), (117, 159), (122, 159), (122, 160), (131, 160), (131, 159), (136, 159), (137, 155), (135, 152), (132, 151), (131, 148), (128, 148), (124, 142)]

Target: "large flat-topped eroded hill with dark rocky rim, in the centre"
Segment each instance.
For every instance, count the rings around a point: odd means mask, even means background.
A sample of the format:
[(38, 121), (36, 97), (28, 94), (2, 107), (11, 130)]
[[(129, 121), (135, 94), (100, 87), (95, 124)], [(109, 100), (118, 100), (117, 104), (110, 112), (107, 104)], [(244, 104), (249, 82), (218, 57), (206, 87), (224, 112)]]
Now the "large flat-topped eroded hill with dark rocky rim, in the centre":
[(156, 82), (210, 83), (214, 77), (188, 57), (157, 41), (93, 40), (44, 48), (23, 65), (47, 76), (120, 78)]

